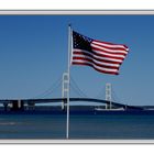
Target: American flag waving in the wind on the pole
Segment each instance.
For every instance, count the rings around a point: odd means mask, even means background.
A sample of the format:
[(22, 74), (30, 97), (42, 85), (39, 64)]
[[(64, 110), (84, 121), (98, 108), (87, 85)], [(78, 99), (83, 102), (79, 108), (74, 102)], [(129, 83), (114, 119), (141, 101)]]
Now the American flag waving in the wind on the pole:
[(73, 65), (87, 65), (100, 73), (118, 75), (128, 52), (127, 45), (92, 40), (73, 31)]

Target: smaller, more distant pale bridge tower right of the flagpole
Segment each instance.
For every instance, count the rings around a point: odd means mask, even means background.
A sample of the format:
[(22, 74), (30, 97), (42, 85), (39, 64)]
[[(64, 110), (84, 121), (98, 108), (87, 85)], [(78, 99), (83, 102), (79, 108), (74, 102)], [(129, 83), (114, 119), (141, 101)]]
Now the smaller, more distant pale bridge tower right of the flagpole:
[(111, 105), (111, 99), (112, 99), (112, 88), (111, 88), (111, 84), (107, 82), (106, 84), (106, 100), (110, 102), (110, 105), (106, 105), (106, 109), (111, 109), (112, 105)]

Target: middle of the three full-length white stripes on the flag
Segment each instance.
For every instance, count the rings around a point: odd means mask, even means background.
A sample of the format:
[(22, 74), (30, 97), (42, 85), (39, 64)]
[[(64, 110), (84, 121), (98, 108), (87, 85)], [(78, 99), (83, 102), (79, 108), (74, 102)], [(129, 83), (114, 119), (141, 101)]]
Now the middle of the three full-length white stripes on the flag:
[(95, 63), (100, 64), (100, 65), (120, 67), (119, 64), (111, 64), (111, 63), (99, 62), (99, 61), (97, 61), (95, 58), (91, 58), (89, 56), (86, 56), (86, 55), (77, 55), (77, 54), (74, 54), (74, 57), (86, 57), (86, 58), (92, 59)]

